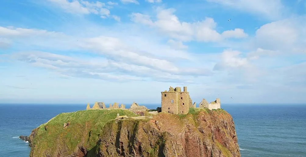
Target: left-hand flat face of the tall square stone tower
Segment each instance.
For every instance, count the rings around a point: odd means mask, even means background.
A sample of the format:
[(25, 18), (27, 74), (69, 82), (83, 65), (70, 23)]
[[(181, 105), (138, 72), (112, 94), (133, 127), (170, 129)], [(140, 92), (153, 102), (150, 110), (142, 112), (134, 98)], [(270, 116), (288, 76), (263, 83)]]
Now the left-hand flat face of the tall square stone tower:
[(162, 112), (178, 114), (178, 97), (179, 97), (178, 92), (169, 91), (161, 93), (162, 93)]

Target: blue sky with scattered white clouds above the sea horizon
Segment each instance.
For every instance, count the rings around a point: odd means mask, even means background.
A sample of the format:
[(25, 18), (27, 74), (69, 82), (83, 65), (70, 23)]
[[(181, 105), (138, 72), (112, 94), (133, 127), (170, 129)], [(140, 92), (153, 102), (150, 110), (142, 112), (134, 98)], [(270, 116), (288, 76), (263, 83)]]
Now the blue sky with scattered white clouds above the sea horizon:
[(304, 0), (2, 0), (0, 102), (160, 103), (188, 86), (197, 103), (305, 103), (305, 13)]

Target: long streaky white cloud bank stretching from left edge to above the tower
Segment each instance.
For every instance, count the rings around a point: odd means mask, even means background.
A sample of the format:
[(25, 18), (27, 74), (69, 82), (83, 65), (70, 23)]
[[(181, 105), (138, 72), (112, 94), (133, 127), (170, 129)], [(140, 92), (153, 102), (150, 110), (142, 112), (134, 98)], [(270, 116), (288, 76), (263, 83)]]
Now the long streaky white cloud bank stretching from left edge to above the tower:
[[(35, 38), (28, 38), (27, 36), (31, 36), (29, 32), (35, 34)], [(1, 27), (0, 35), (6, 35), (7, 38), (16, 38), (17, 36), (27, 37), (24, 38), (25, 40), (23, 41), (20, 40), (20, 42), (27, 44), (27, 42), (32, 41), (33, 43), (37, 44), (37, 46), (45, 45), (39, 45), (40, 42), (35, 41), (34, 39), (40, 40), (42, 36), (45, 38), (50, 38), (48, 37), (48, 35), (50, 35), (54, 38), (54, 40), (50, 42), (51, 44), (49, 43), (49, 49), (60, 50), (61, 47), (58, 46), (65, 42), (66, 49), (75, 49), (79, 51), (96, 53), (108, 58), (107, 60), (94, 60), (91, 58), (93, 63), (87, 63), (89, 61), (82, 61), (81, 59), (74, 59), (72, 57), (56, 55), (52, 53), (32, 51), (28, 53), (17, 53), (17, 58), (21, 61), (32, 63), (35, 66), (53, 69), (60, 72), (61, 74), (65, 74), (70, 71), (73, 72), (71, 76), (79, 76), (77, 75), (78, 72), (79, 74), (82, 74), (80, 77), (83, 77), (83, 75), (89, 75), (91, 77), (97, 76), (97, 78), (101, 78), (102, 75), (103, 77), (106, 77), (106, 72), (113, 73), (114, 71), (125, 71), (125, 74), (121, 75), (128, 75), (128, 72), (130, 72), (131, 77), (148, 77), (153, 80), (163, 81), (175, 81), (174, 78), (176, 78), (176, 81), (186, 80), (190, 82), (193, 76), (210, 75), (210, 71), (205, 68), (184, 68), (177, 66), (173, 62), (170, 62), (166, 59), (154, 56), (146, 56), (141, 53), (140, 50), (137, 50), (127, 45), (121, 39), (114, 37), (97, 36), (90, 38), (78, 38), (78, 41), (76, 42), (75, 40), (71, 40), (76, 37), (67, 36), (62, 33), (5, 27)], [(179, 55), (179, 51), (177, 52)], [(111, 70), (107, 71), (109, 69)], [(100, 75), (101, 77), (98, 77)], [(113, 76), (110, 77), (113, 78)]]

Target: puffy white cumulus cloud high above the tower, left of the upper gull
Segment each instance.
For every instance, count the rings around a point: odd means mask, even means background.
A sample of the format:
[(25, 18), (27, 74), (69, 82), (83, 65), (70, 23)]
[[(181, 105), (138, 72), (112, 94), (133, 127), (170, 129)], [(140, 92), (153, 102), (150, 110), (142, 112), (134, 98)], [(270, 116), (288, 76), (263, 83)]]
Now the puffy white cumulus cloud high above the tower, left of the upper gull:
[(245, 38), (247, 36), (242, 29), (225, 31), (224, 34), (219, 34), (215, 30), (217, 24), (212, 18), (206, 17), (203, 21), (188, 23), (181, 22), (178, 17), (173, 14), (175, 12), (173, 8), (158, 8), (156, 11), (157, 20), (155, 21), (152, 21), (149, 15), (141, 13), (132, 13), (130, 17), (133, 22), (156, 27), (170, 38), (184, 42), (191, 40), (219, 42), (224, 38)]

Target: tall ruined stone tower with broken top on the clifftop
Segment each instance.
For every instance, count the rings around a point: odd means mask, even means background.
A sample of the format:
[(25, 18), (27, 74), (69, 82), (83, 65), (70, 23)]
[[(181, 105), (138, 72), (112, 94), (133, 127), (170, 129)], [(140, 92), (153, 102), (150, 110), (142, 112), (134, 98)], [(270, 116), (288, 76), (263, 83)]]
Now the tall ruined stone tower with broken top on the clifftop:
[(172, 114), (187, 114), (189, 107), (193, 107), (187, 87), (181, 91), (181, 87), (171, 87), (169, 91), (162, 93), (162, 112)]

